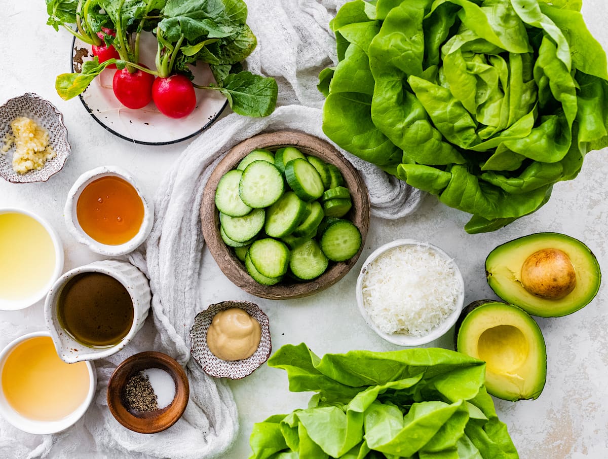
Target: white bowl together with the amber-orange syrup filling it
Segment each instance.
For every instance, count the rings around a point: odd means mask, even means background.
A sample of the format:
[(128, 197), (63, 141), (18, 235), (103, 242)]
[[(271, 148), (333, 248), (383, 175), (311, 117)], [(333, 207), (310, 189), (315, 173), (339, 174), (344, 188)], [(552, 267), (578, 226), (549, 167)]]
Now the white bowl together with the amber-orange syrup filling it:
[(154, 220), (151, 203), (130, 173), (115, 166), (83, 173), (67, 195), (67, 229), (97, 253), (118, 256), (148, 237)]

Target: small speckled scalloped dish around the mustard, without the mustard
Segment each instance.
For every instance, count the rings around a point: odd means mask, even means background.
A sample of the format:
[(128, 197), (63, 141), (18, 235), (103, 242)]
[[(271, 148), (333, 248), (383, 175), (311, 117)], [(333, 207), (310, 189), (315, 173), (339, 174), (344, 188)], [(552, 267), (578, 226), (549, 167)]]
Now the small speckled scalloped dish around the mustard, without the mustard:
[[(214, 356), (209, 350), (207, 330), (214, 315), (231, 307), (240, 307), (260, 323), (261, 338), (260, 345), (251, 357), (245, 360), (227, 362)], [(192, 348), (190, 348), (192, 357), (209, 376), (213, 377), (241, 379), (249, 376), (268, 360), (272, 350), (268, 316), (257, 304), (249, 301), (223, 301), (222, 303), (212, 304), (206, 310), (199, 312), (194, 319), (192, 328), (190, 328), (190, 340), (192, 341)]]

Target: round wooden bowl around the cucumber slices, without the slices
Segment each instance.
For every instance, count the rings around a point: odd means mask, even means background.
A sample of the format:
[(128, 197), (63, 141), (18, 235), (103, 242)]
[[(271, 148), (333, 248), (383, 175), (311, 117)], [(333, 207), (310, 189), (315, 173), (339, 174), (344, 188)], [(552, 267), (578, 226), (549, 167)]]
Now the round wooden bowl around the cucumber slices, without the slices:
[[(298, 282), (285, 276), (282, 282), (274, 286), (263, 286), (249, 276), (243, 263), (233, 251), (224, 244), (219, 234), (219, 212), (215, 207), (215, 190), (219, 179), (229, 170), (235, 169), (238, 163), (254, 149), (275, 151), (282, 147), (293, 146), (305, 155), (317, 156), (326, 163), (334, 164), (342, 173), (351, 194), (353, 207), (345, 218), (351, 220), (361, 232), (361, 248), (358, 253), (345, 262), (331, 263), (330, 267), (318, 278), (307, 282)], [(314, 136), (299, 131), (276, 131), (259, 134), (235, 145), (226, 153), (211, 173), (205, 186), (201, 202), (202, 235), (213, 258), (224, 275), (247, 293), (268, 298), (285, 300), (302, 298), (333, 286), (342, 279), (359, 259), (365, 244), (365, 237), (370, 223), (370, 198), (367, 187), (356, 169), (332, 145)]]

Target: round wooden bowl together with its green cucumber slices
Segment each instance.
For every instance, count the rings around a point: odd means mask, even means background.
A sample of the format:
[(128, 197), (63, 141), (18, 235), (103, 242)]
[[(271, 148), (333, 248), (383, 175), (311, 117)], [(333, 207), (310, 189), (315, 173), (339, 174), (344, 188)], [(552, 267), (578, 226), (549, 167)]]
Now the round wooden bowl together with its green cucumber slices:
[(230, 281), (261, 298), (302, 298), (354, 266), (370, 199), (357, 170), (328, 142), (277, 131), (224, 156), (204, 189), (201, 222)]

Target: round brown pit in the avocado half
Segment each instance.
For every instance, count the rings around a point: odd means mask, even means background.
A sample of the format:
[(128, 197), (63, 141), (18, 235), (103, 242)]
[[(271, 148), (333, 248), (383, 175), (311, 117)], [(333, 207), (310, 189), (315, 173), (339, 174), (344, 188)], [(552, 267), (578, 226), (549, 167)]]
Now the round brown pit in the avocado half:
[(532, 295), (544, 300), (561, 300), (575, 289), (576, 272), (564, 251), (545, 248), (523, 262), (521, 282)]

